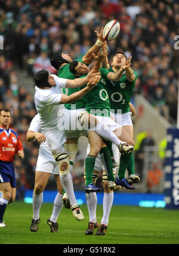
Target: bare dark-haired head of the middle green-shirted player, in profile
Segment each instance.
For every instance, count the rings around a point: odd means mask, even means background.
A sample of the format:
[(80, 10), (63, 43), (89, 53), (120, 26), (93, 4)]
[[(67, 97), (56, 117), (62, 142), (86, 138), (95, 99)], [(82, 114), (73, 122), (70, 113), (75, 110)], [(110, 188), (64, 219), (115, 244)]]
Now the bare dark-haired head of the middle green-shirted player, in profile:
[(85, 63), (76, 60), (70, 63), (69, 69), (77, 77), (87, 75), (90, 72), (89, 67)]

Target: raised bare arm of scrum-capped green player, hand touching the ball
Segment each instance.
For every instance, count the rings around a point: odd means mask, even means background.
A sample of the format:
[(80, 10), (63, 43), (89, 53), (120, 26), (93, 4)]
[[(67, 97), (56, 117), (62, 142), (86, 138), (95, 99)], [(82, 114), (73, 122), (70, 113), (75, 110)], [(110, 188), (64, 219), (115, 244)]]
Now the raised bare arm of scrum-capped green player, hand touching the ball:
[(98, 54), (98, 52), (100, 51), (101, 46), (103, 45), (103, 42), (105, 41), (105, 39), (103, 38), (103, 29), (104, 27), (101, 28), (100, 33), (98, 33), (96, 30), (94, 31), (97, 34), (97, 42), (87, 51), (87, 53), (84, 55), (84, 57), (82, 57), (82, 61), (84, 61), (84, 63), (90, 64), (93, 60), (93, 56), (92, 53), (94, 53), (95, 55)]

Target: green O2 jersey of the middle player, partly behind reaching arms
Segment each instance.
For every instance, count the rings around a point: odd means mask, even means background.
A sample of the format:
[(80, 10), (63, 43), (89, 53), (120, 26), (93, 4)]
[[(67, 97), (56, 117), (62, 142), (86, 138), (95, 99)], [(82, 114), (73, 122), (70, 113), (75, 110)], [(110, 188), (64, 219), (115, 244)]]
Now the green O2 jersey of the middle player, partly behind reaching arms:
[[(81, 76), (81, 78), (84, 77)], [(78, 87), (78, 90), (81, 90), (85, 86)], [(85, 108), (88, 113), (95, 116), (110, 116), (109, 94), (103, 78), (100, 79), (90, 92), (84, 95), (83, 99), (85, 100)]]

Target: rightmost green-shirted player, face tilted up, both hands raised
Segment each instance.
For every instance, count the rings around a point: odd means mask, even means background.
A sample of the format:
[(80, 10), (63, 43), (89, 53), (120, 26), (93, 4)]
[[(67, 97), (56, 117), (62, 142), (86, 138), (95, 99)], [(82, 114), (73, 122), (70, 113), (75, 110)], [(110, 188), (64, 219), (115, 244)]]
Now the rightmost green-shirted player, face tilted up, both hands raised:
[[(106, 79), (106, 86), (109, 91), (110, 107), (113, 112), (115, 121), (119, 124), (120, 119), (122, 131), (126, 131), (133, 139), (133, 125), (131, 121), (131, 112), (129, 112), (129, 101), (137, 79), (137, 73), (131, 69), (131, 57), (126, 59), (124, 53), (118, 52), (112, 60), (112, 67), (109, 66), (106, 58), (106, 63), (103, 63), (107, 69), (101, 68), (101, 74)], [(120, 113), (121, 112), (121, 113)], [(121, 116), (122, 114), (122, 116)], [(134, 172), (134, 155), (122, 154), (119, 165), (118, 184), (126, 183), (125, 171), (128, 169), (128, 182), (130, 184), (140, 181), (138, 175)]]

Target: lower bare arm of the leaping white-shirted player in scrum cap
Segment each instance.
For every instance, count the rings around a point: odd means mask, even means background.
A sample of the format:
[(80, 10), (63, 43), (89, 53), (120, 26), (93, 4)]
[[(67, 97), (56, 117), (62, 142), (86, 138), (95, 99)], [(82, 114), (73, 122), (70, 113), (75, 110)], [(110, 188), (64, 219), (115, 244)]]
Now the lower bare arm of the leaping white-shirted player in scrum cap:
[(75, 101), (82, 98), (85, 94), (92, 90), (95, 87), (97, 82), (100, 80), (101, 76), (97, 76), (94, 82), (88, 82), (87, 87), (83, 88), (80, 91), (77, 91), (69, 96), (62, 94), (60, 104), (74, 103)]

